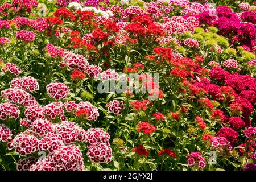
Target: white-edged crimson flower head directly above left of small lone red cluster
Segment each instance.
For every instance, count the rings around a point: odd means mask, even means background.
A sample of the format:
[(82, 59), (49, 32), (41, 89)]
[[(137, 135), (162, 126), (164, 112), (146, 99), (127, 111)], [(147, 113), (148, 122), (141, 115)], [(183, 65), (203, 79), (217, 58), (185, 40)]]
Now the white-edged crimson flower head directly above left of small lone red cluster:
[(64, 60), (65, 63), (67, 63), (69, 69), (77, 69), (80, 72), (84, 72), (89, 65), (84, 56), (76, 55), (75, 53), (71, 52), (64, 53)]

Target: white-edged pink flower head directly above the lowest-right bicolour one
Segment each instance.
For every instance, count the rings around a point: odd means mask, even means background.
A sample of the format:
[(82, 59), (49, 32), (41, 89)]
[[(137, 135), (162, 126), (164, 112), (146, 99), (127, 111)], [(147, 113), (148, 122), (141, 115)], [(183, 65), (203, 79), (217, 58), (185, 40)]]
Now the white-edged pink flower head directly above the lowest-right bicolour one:
[(91, 128), (86, 131), (86, 141), (89, 144), (93, 143), (105, 143), (109, 146), (110, 136), (103, 129), (100, 128)]

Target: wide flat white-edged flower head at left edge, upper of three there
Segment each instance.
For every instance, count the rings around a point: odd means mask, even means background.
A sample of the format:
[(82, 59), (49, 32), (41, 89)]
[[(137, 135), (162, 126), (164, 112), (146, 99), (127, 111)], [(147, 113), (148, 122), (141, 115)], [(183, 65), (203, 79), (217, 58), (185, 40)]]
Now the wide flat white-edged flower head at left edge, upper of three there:
[(24, 104), (24, 102), (30, 100), (30, 94), (26, 91), (13, 88), (2, 90), (1, 97), (16, 104)]

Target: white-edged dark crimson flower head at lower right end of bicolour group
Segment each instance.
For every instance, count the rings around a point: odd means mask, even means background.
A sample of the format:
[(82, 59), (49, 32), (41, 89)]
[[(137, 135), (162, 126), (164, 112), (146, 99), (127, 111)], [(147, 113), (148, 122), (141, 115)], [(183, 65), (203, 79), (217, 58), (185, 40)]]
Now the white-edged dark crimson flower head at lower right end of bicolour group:
[(112, 161), (112, 148), (106, 143), (93, 143), (88, 147), (87, 156), (94, 163), (110, 163)]

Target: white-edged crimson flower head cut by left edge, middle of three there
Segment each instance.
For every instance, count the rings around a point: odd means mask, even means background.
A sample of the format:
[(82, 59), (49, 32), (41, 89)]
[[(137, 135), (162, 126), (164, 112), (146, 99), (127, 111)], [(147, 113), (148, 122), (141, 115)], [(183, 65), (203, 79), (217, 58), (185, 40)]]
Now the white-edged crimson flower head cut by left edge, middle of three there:
[(16, 104), (1, 103), (0, 104), (0, 119), (5, 120), (9, 116), (10, 118), (17, 119), (19, 117), (20, 110)]

